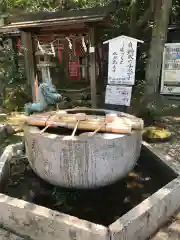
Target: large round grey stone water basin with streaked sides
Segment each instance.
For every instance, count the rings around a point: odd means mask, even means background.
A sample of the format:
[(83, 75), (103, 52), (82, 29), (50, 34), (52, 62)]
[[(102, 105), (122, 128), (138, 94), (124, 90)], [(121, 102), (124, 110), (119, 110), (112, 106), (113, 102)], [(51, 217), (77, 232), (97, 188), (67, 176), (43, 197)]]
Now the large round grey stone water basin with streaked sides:
[(140, 155), (142, 131), (97, 133), (69, 138), (26, 125), (26, 154), (35, 173), (67, 188), (97, 188), (124, 178)]

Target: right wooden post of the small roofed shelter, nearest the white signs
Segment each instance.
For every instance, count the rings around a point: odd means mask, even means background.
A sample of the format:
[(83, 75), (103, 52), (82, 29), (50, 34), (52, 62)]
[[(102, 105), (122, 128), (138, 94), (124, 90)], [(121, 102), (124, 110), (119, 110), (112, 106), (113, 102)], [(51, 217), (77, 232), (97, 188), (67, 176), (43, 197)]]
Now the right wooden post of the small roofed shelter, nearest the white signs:
[(90, 53), (90, 85), (91, 85), (91, 106), (97, 108), (96, 96), (96, 53), (95, 53), (95, 29), (89, 31), (90, 47), (94, 47), (94, 52)]

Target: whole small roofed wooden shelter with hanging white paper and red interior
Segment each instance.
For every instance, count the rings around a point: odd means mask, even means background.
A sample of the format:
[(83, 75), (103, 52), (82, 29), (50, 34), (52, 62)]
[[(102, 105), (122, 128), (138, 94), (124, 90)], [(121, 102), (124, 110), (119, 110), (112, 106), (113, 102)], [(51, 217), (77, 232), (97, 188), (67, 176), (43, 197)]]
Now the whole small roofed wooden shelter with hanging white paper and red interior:
[(103, 78), (101, 37), (114, 10), (112, 3), (106, 7), (9, 17), (0, 31), (16, 28), (21, 32), (26, 77), (34, 102), (38, 84), (51, 80), (58, 90), (66, 88), (67, 83), (76, 89), (89, 87), (91, 105), (97, 107), (98, 81)]

